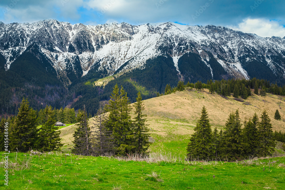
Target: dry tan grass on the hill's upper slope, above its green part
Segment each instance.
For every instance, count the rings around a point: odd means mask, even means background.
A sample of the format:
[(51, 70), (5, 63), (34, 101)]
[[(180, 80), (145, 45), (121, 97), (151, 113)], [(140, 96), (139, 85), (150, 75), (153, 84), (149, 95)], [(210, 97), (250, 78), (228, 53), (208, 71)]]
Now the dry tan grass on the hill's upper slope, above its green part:
[(285, 97), (269, 94), (262, 97), (253, 94), (246, 101), (250, 102), (251, 105), (244, 105), (242, 102), (233, 100), (233, 97), (227, 100), (217, 94), (212, 95), (208, 89), (201, 92), (186, 89), (182, 92), (145, 100), (144, 104), (150, 128), (159, 126), (159, 124), (154, 124), (153, 120), (176, 120), (178, 122), (181, 120), (187, 122), (183, 122), (182, 126), (195, 126), (200, 117), (201, 109), (205, 105), (213, 127), (223, 127), (229, 114), (237, 109), (239, 109), (242, 120), (249, 119), (255, 112), (260, 116), (266, 110), (271, 119), (273, 130), (285, 131), (284, 122), (274, 119), (276, 109), (279, 110), (282, 119), (285, 119)]

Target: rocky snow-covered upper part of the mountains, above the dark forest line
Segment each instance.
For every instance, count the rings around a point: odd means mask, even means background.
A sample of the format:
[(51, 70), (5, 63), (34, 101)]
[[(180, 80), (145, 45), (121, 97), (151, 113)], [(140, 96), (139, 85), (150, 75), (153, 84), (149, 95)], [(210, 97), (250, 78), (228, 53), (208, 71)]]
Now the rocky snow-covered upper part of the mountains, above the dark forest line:
[[(32, 24), (0, 22), (0, 54), (6, 60), (6, 70), (33, 44), (37, 44), (57, 74), (66, 78), (67, 71), (81, 77), (94, 68), (107, 71), (108, 75), (118, 69), (125, 72), (144, 68), (146, 60), (160, 55), (172, 57), (180, 73), (178, 62), (186, 53), (198, 54), (201, 62), (210, 68), (212, 77), (210, 57), (230, 77), (256, 77), (260, 64), (280, 80), (284, 80), (285, 73), (285, 37), (262, 38), (221, 26), (171, 22), (139, 26), (73, 25), (52, 19)], [(257, 70), (255, 74), (251, 74), (252, 64)]]

